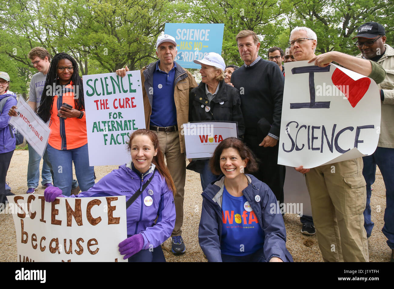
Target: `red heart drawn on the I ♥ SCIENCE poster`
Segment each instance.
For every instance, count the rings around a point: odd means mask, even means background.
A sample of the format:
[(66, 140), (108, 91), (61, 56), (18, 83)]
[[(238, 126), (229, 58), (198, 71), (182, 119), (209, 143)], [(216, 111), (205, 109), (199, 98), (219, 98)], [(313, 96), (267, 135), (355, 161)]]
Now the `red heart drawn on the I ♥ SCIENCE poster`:
[(346, 96), (352, 107), (355, 107), (357, 103), (359, 103), (360, 99), (365, 95), (371, 84), (371, 79), (368, 77), (353, 80), (349, 75), (338, 68), (334, 70), (331, 80)]

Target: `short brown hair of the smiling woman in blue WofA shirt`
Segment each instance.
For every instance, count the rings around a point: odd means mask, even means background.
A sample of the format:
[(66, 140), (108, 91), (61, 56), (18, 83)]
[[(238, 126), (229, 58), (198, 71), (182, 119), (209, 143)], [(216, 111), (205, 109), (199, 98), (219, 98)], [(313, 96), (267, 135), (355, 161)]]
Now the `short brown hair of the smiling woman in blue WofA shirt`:
[(212, 158), (209, 161), (209, 166), (215, 175), (221, 175), (222, 171), (220, 169), (220, 156), (223, 153), (224, 149), (228, 149), (232, 147), (236, 149), (240, 154), (242, 160), (247, 159), (248, 163), (244, 168), (245, 173), (253, 173), (258, 170), (258, 164), (255, 156), (253, 155), (251, 149), (247, 147), (242, 140), (238, 140), (238, 138), (226, 138), (221, 141), (220, 144), (216, 147)]

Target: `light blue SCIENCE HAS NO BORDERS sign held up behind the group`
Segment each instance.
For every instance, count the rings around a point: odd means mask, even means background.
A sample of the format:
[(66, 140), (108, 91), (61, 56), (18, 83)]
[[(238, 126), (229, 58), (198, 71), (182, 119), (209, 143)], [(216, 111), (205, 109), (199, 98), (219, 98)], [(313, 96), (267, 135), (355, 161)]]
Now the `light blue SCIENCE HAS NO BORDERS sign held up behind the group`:
[(201, 60), (209, 52), (221, 55), (224, 24), (166, 23), (164, 33), (175, 37), (175, 61), (183, 68), (200, 68), (193, 60)]

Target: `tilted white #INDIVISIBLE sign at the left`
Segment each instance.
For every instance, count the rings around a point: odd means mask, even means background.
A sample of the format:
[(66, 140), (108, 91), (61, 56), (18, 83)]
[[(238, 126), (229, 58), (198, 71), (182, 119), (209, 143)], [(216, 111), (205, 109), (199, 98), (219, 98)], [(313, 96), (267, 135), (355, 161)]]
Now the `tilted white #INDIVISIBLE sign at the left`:
[(18, 116), (11, 117), (9, 124), (26, 138), (30, 147), (43, 156), (48, 144), (50, 128), (22, 97), (19, 98), (17, 107)]

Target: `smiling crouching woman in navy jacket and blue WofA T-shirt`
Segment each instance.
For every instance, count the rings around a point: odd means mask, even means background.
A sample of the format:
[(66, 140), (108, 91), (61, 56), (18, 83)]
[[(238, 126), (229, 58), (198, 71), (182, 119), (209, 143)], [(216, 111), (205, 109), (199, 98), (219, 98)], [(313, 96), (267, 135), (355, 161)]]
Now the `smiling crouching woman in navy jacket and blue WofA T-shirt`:
[(208, 261), (293, 261), (275, 195), (244, 173), (258, 169), (251, 150), (227, 138), (217, 146), (210, 167), (224, 176), (202, 194), (199, 243)]

